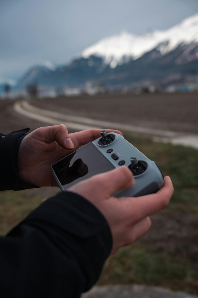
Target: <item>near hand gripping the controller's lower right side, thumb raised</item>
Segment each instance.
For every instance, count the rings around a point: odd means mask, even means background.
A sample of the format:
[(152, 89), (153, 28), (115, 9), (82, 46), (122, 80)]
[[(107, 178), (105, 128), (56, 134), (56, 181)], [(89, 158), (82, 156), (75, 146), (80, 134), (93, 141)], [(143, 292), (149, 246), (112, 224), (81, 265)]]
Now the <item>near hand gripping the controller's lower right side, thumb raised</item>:
[(166, 208), (172, 194), (170, 177), (164, 177), (164, 186), (151, 195), (137, 198), (115, 198), (113, 194), (134, 185), (134, 177), (127, 167), (93, 176), (68, 189), (82, 195), (93, 203), (109, 223), (113, 235), (111, 254), (121, 246), (131, 244), (151, 227), (148, 216)]

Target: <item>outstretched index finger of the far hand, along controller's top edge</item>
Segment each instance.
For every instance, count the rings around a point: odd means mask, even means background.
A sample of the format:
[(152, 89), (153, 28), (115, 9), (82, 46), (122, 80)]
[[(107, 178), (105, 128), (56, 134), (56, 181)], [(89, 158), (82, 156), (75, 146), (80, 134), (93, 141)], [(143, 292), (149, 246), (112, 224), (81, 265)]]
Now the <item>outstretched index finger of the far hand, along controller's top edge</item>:
[[(79, 132), (69, 134), (69, 137), (71, 138), (76, 148), (99, 138), (101, 136), (100, 134), (101, 130), (102, 129), (87, 129), (85, 131), (79, 131)], [(116, 134), (122, 134), (120, 131), (117, 131), (114, 129), (105, 129), (105, 131), (107, 132), (107, 134), (109, 134), (110, 132), (115, 132)]]

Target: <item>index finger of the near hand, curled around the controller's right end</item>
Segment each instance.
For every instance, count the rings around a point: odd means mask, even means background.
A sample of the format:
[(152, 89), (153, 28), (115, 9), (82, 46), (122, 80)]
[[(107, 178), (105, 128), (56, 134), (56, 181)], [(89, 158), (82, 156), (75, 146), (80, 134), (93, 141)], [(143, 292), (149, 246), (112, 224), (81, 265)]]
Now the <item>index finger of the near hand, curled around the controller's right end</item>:
[[(166, 176), (164, 177), (163, 187), (157, 193), (133, 198), (135, 200), (135, 208), (137, 209), (136, 219), (140, 221), (147, 216), (165, 209), (172, 197), (173, 191), (172, 181), (170, 177)], [(132, 204), (132, 208), (134, 211), (134, 204)]]

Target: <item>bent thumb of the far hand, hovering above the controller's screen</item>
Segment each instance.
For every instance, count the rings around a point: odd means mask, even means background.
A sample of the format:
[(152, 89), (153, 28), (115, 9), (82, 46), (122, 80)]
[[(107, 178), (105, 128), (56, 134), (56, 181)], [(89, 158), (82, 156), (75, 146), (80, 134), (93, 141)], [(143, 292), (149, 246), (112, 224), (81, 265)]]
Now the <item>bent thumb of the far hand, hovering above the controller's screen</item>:
[(57, 142), (64, 149), (73, 149), (74, 144), (69, 137), (67, 127), (64, 124), (39, 128), (45, 142)]

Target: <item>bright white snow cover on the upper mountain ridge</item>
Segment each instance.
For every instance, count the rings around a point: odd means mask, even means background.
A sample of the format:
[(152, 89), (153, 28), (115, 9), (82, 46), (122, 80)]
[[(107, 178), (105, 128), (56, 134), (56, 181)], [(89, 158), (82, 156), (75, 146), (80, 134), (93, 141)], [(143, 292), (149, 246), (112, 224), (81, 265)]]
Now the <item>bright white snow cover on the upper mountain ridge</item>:
[[(160, 46), (162, 55), (176, 49), (180, 44), (198, 42), (198, 14), (186, 18), (180, 24), (164, 31), (153, 31), (144, 35), (121, 32), (98, 41), (86, 48), (82, 57), (91, 55), (104, 58), (112, 68), (128, 62), (129, 58), (137, 59), (146, 52)], [(198, 57), (197, 57), (198, 58)]]

